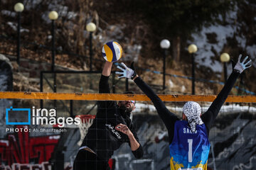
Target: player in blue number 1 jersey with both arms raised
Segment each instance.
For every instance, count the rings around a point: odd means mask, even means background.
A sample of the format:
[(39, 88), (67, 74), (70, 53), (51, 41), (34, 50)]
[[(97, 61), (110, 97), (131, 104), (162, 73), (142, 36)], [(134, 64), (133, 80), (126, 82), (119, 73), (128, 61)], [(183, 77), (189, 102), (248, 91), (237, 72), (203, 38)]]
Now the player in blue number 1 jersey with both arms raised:
[(240, 61), (241, 57), (242, 55), (239, 56), (232, 74), (230, 74), (228, 81), (210, 105), (208, 111), (202, 115), (199, 104), (188, 101), (183, 106), (182, 120), (178, 120), (178, 117), (166, 108), (159, 96), (136, 74), (133, 63), (131, 68), (128, 68), (124, 63), (122, 63), (124, 68), (118, 67), (122, 70), (122, 72), (116, 72), (121, 74), (119, 78), (126, 77), (134, 80), (137, 86), (154, 103), (157, 113), (164, 121), (169, 135), (171, 170), (207, 169), (210, 151), (210, 142), (208, 140), (210, 126), (213, 125), (236, 79), (245, 69), (251, 66), (251, 60), (247, 60), (248, 57), (245, 57), (242, 62)]

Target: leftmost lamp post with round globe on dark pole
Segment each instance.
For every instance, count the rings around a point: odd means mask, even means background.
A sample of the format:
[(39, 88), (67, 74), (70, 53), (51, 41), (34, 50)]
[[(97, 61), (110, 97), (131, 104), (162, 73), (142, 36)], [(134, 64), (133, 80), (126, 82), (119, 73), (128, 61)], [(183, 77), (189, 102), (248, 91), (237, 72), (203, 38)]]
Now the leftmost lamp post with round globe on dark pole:
[(20, 64), (20, 45), (21, 45), (21, 12), (24, 10), (23, 4), (18, 2), (14, 6), (14, 11), (18, 13), (18, 28), (17, 28), (17, 63)]

